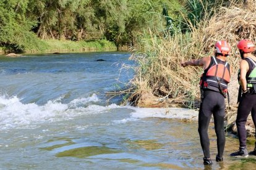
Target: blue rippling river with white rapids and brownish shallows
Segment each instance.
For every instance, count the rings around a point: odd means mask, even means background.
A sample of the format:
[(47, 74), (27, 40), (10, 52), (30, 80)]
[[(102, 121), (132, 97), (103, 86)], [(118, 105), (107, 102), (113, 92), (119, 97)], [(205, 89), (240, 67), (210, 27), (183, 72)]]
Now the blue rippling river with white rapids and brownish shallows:
[[(130, 54), (0, 56), (0, 169), (254, 169), (255, 158), (230, 158), (238, 140), (226, 136), (224, 163), (203, 166), (197, 111), (120, 105), (106, 92), (133, 76)], [(96, 60), (105, 61), (98, 62)], [(249, 144), (249, 151), (254, 147)]]

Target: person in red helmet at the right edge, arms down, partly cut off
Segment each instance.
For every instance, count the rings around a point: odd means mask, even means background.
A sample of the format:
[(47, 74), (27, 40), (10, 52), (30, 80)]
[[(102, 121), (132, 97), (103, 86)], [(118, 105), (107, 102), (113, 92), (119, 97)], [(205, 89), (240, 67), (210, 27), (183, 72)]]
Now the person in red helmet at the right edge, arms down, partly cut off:
[[(245, 123), (251, 112), (254, 126), (256, 127), (256, 57), (252, 55), (255, 51), (255, 45), (248, 39), (242, 39), (237, 44), (239, 52), (241, 54), (242, 61), (240, 63), (239, 71), (239, 102), (237, 108), (237, 134), (239, 137), (239, 150), (238, 152), (231, 153), (231, 156), (243, 156), (247, 157), (247, 145), (246, 137), (247, 132), (245, 130)], [(242, 94), (242, 96), (241, 96)], [(250, 152), (252, 155), (256, 155), (256, 142), (254, 151)]]

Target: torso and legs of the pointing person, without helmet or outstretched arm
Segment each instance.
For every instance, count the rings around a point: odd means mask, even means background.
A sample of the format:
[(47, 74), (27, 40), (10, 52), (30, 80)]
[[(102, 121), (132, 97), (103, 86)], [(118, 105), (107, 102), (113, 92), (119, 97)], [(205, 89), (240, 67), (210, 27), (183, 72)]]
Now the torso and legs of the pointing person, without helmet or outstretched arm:
[[(223, 68), (223, 70), (221, 70), (220, 68)], [(209, 72), (210, 74), (208, 74)], [(226, 80), (223, 78), (225, 73), (228, 76)], [(218, 78), (220, 78), (221, 80), (218, 80)], [(203, 153), (205, 155), (205, 164), (207, 164), (207, 159), (210, 158), (210, 140), (208, 138), (208, 126), (211, 120), (211, 115), (213, 115), (213, 118), (215, 120), (215, 132), (218, 144), (218, 154), (216, 155), (216, 161), (223, 161), (223, 152), (225, 145), (224, 99), (226, 98), (226, 94), (228, 92), (229, 79), (230, 67), (228, 62), (226, 62), (226, 57), (224, 57), (223, 55), (211, 57), (211, 63), (202, 75), (201, 93), (203, 99), (200, 104), (200, 110), (198, 115), (198, 133), (200, 135), (200, 142), (202, 145)]]

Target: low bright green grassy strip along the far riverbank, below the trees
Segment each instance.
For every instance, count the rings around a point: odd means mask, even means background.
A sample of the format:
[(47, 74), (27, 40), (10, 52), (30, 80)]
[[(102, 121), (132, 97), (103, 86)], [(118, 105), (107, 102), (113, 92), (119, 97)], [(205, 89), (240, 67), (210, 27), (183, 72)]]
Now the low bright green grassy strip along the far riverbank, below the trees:
[[(95, 41), (61, 41), (58, 39), (40, 40), (38, 46), (26, 47), (22, 53), (42, 54), (42, 53), (62, 53), (62, 52), (92, 52), (92, 51), (117, 51), (114, 42), (100, 39)], [(7, 47), (0, 47), (0, 54), (12, 52)]]

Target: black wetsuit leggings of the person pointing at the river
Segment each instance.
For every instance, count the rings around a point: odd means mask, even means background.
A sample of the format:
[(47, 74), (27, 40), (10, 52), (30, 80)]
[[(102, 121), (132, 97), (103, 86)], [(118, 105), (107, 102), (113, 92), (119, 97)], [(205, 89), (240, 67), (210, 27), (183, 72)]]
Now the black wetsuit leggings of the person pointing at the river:
[(217, 136), (218, 156), (223, 157), (225, 146), (224, 115), (225, 102), (223, 95), (215, 91), (203, 91), (203, 99), (200, 104), (198, 116), (198, 132), (205, 158), (210, 158), (210, 140), (208, 126), (213, 114), (215, 132)]

